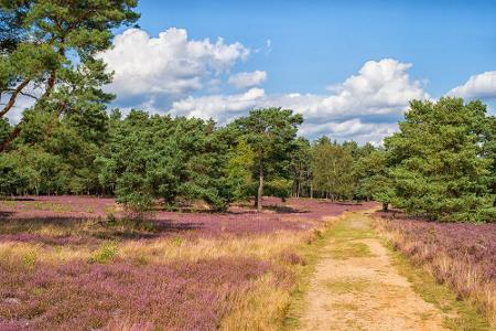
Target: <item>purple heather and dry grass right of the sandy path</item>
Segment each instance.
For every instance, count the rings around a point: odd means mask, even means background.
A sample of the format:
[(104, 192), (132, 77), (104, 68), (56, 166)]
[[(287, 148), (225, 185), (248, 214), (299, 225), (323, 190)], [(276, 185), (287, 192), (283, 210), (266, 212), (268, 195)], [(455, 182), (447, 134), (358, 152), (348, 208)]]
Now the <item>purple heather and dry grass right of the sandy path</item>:
[(435, 223), (378, 215), (378, 226), (399, 250), (428, 266), (439, 281), (475, 301), (496, 322), (496, 224)]

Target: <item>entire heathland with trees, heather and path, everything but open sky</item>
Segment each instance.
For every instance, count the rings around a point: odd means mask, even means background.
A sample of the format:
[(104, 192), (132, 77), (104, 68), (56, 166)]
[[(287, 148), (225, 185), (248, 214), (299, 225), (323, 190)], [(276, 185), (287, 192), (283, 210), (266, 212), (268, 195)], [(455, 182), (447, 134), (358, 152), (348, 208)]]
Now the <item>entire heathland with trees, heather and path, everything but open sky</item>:
[(362, 146), (278, 105), (109, 109), (138, 3), (71, 3), (0, 1), (1, 330), (495, 327), (483, 102), (410, 100)]

